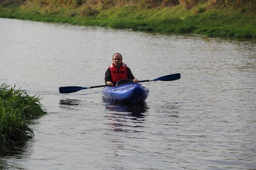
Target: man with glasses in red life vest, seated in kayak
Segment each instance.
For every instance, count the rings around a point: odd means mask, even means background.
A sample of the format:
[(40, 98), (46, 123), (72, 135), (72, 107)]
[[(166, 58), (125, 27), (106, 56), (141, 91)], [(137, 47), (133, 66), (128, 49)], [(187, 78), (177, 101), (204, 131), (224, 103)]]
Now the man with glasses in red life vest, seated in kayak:
[(131, 69), (123, 63), (123, 57), (119, 53), (115, 53), (112, 58), (113, 63), (105, 72), (105, 83), (112, 87), (120, 79), (131, 79), (133, 82), (138, 83), (140, 80), (136, 79)]

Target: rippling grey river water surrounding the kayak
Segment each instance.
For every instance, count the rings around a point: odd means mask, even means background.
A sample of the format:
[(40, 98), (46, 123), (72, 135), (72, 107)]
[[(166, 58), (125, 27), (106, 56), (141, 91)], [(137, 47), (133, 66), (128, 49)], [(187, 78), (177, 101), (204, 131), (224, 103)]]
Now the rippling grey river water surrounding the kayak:
[[(119, 52), (142, 105), (104, 99)], [(35, 138), (1, 151), (3, 169), (256, 169), (256, 41), (0, 18), (0, 82), (40, 95)]]

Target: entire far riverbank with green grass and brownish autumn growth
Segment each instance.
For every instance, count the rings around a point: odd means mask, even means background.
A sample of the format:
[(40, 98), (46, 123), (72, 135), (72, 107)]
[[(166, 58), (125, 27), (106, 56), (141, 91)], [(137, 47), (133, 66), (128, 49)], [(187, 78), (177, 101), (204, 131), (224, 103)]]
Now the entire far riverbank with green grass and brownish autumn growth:
[[(169, 1), (175, 2), (166, 2)], [(240, 0), (240, 4), (239, 0), (233, 1), (236, 3), (228, 3), (227, 0), (222, 0), (222, 3), (218, 0), (198, 0), (190, 6), (185, 3), (191, 1), (180, 0), (180, 3), (176, 1), (168, 6), (162, 3), (145, 3), (152, 0), (119, 0), (119, 3), (114, 0), (102, 0), (104, 3), (99, 3), (98, 0), (6, 0), (0, 3), (0, 17), (82, 26), (107, 26), (134, 31), (256, 39), (256, 0)]]

